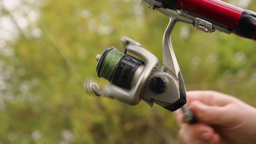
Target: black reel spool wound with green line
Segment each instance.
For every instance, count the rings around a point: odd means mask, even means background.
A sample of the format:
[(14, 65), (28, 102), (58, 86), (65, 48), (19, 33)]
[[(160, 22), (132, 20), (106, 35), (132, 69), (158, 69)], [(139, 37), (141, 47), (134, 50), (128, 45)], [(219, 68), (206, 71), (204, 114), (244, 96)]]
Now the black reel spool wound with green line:
[[(112, 84), (131, 89), (144, 67), (144, 62), (134, 56), (119, 52), (115, 47), (106, 49), (98, 55), (96, 72), (99, 78), (104, 78)], [(141, 67), (139, 69), (139, 67)], [(135, 75), (135, 76), (134, 76)]]

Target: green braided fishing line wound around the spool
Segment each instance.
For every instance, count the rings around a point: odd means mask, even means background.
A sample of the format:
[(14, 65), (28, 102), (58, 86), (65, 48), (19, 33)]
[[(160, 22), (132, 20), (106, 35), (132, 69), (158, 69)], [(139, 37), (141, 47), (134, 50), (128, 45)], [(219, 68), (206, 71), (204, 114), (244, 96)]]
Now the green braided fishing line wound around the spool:
[(119, 52), (117, 49), (111, 49), (102, 62), (99, 77), (107, 79), (109, 82), (111, 82), (115, 68), (124, 56), (125, 54)]

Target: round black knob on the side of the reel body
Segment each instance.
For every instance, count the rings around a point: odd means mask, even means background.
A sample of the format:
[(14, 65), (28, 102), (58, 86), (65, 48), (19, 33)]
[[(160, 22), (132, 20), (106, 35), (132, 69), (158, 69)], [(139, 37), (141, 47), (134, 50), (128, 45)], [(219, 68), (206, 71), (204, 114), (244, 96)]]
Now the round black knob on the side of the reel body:
[(167, 82), (163, 76), (155, 76), (151, 79), (149, 86), (153, 92), (161, 94), (166, 90)]

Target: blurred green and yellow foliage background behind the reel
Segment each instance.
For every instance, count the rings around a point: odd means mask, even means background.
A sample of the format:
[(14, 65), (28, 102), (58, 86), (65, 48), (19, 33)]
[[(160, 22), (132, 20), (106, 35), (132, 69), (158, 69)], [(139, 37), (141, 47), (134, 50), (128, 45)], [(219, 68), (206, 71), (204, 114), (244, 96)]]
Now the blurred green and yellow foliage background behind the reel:
[[(256, 11), (253, 0), (227, 2)], [(112, 46), (123, 51), (119, 39), (128, 36), (161, 63), (167, 23), (139, 0), (0, 0), (0, 144), (181, 144), (164, 108), (87, 95), (52, 41), (82, 81), (104, 86), (95, 56)], [(187, 90), (256, 106), (255, 41), (180, 23), (172, 43)]]

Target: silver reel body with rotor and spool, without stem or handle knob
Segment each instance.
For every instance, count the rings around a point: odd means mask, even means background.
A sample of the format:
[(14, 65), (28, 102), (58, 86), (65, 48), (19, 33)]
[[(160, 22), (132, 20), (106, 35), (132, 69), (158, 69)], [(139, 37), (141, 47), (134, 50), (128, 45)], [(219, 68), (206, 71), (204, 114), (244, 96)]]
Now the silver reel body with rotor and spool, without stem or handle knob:
[[(112, 52), (116, 50), (114, 47), (106, 49), (102, 55), (98, 55), (96, 67), (98, 77), (103, 77), (111, 82), (111, 85), (108, 85), (103, 93), (128, 105), (137, 105), (143, 99), (150, 106), (156, 103), (169, 111), (176, 111), (181, 108), (187, 102), (181, 72), (176, 77), (164, 65), (157, 70), (158, 59), (151, 52), (142, 48), (141, 45), (134, 45), (133, 43), (137, 42), (128, 37), (122, 37), (121, 40), (125, 42), (126, 49), (127, 47), (134, 47), (137, 49), (133, 52), (134, 54), (144, 56), (144, 58), (147, 57), (148, 60), (144, 59), (144, 62), (128, 55), (126, 54), (127, 50), (121, 55), (121, 52)], [(110, 62), (106, 64), (105, 61)], [(112, 65), (115, 62), (117, 64)], [(114, 67), (114, 70), (110, 71), (104, 69), (104, 67)], [(103, 75), (102, 73), (107, 73), (108, 75)], [(140, 86), (136, 87), (136, 85)], [(111, 94), (107, 92), (111, 92)], [(136, 93), (138, 95), (132, 95)], [(130, 94), (128, 97), (133, 97), (134, 99), (126, 101), (124, 94)], [(117, 97), (117, 95), (119, 96)]]

